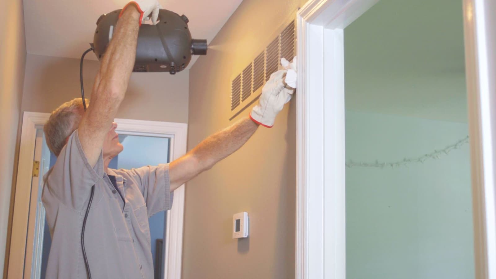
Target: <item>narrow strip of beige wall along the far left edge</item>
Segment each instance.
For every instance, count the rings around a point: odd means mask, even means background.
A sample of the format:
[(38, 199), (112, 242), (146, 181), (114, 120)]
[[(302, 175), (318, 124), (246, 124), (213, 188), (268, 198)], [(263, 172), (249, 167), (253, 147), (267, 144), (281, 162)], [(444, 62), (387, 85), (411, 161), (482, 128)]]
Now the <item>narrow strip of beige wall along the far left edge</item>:
[(0, 8), (0, 275), (3, 274), (11, 189), (17, 161), (16, 139), (21, 109), (26, 41), (22, 0)]

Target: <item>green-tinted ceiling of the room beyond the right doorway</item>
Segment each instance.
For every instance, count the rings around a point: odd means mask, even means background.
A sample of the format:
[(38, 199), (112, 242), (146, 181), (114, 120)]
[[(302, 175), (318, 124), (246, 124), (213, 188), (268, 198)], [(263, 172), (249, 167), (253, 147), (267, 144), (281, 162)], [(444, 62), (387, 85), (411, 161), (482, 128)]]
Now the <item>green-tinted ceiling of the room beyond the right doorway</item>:
[(462, 1), (380, 0), (344, 38), (347, 109), (467, 122)]

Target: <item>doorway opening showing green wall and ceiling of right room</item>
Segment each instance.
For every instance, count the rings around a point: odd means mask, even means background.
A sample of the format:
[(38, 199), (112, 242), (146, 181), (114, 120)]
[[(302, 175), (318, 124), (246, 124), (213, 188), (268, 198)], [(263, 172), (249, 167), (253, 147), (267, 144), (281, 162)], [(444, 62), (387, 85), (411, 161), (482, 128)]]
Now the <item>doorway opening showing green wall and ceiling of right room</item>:
[(347, 278), (475, 278), (462, 15), (380, 0), (344, 29)]

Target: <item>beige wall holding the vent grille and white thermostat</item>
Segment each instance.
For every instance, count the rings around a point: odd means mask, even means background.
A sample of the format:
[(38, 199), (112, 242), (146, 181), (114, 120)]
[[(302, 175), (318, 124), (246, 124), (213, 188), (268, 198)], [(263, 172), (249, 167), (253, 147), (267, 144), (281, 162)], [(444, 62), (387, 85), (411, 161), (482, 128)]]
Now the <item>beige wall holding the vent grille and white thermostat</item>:
[[(306, 0), (244, 0), (190, 70), (188, 148), (228, 126), (230, 84)], [(213, 48), (212, 48), (213, 46)], [(248, 115), (249, 110), (237, 119)], [(295, 102), (272, 129), (186, 185), (184, 279), (294, 277)], [(232, 239), (232, 216), (248, 211), (250, 236)]]

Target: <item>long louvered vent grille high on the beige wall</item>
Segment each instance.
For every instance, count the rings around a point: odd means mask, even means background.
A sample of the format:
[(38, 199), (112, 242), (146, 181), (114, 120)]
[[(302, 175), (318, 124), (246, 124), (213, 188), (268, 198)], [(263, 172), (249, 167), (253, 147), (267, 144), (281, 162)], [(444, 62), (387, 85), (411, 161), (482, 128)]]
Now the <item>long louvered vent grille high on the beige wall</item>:
[(253, 103), (256, 98), (250, 98), (251, 94), (269, 80), (272, 73), (277, 71), (281, 58), (286, 58), (288, 61), (293, 59), (296, 51), (295, 43), (295, 22), (292, 21), (248, 67), (233, 79), (231, 82), (231, 111), (234, 111), (245, 101), (247, 104), (239, 109), (230, 120)]

